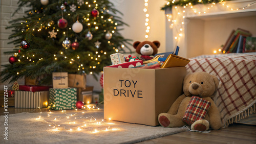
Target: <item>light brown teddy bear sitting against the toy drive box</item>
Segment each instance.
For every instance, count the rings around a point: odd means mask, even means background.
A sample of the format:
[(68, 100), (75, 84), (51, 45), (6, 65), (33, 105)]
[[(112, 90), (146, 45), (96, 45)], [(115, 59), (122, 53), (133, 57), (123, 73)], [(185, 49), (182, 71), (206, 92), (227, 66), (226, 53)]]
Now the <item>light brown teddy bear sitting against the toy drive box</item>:
[[(191, 125), (192, 130), (206, 131), (211, 127), (214, 130), (221, 128), (221, 116), (218, 107), (211, 99), (217, 91), (219, 80), (216, 76), (205, 72), (187, 74), (183, 80), (184, 94), (180, 95), (167, 113), (160, 113), (158, 121), (163, 127), (182, 127), (189, 125), (184, 121), (184, 115), (192, 98), (210, 102), (210, 107), (203, 119)], [(196, 96), (196, 97), (192, 97)]]

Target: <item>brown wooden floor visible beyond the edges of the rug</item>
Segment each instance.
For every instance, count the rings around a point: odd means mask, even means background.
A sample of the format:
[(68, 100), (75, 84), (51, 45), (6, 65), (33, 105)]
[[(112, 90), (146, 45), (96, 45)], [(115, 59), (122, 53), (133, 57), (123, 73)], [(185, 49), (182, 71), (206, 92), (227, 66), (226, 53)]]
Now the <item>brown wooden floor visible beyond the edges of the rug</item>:
[[(47, 111), (42, 108), (41, 111)], [(20, 112), (40, 112), (39, 109), (21, 109), (8, 107), (9, 114)], [(4, 115), (4, 108), (0, 108), (0, 115)], [(225, 144), (249, 144), (256, 143), (256, 126), (232, 124), (226, 129), (211, 130), (210, 133), (181, 132), (173, 135), (163, 136), (142, 143), (225, 143)]]

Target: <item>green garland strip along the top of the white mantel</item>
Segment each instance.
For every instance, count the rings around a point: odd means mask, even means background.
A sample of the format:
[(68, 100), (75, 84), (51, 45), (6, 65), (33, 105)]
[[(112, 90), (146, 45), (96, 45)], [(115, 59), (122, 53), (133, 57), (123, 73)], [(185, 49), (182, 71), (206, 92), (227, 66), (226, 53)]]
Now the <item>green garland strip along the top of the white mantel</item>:
[(233, 1), (233, 0), (168, 0), (168, 2), (161, 8), (161, 10), (165, 10), (167, 8), (172, 9), (172, 6), (188, 6), (188, 5), (197, 5), (197, 4), (212, 4), (212, 3), (220, 3), (224, 1)]

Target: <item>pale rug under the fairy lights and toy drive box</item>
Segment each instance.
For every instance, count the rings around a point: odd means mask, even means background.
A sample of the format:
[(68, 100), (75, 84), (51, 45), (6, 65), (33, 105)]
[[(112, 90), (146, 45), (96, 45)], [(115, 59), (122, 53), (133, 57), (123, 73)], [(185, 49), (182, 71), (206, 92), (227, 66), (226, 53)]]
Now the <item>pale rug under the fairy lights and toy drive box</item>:
[(0, 143), (135, 143), (187, 130), (102, 121), (102, 118), (103, 110), (97, 109), (10, 114), (8, 140), (5, 140), (6, 119), (1, 115)]

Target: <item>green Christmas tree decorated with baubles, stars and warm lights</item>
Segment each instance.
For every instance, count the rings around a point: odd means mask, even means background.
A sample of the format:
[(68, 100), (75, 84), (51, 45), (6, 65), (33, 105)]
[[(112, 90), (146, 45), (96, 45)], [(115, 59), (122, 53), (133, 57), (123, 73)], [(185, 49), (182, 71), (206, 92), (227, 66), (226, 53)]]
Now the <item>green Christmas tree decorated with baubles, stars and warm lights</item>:
[[(110, 54), (129, 43), (119, 31), (126, 25), (108, 0), (20, 0), (26, 16), (10, 21), (9, 39), (16, 45), (3, 65), (1, 81), (40, 77), (51, 84), (52, 73), (97, 74), (111, 65)], [(14, 15), (13, 14), (13, 15)], [(130, 50), (130, 49), (129, 49)]]

